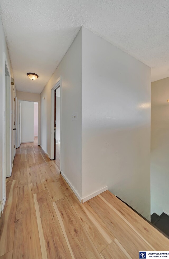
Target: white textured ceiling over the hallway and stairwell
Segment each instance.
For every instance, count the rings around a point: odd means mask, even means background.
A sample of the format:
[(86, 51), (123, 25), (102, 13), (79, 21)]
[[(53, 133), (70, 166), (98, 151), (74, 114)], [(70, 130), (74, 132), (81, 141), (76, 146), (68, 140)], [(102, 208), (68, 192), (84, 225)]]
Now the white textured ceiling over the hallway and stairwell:
[[(81, 26), (158, 67), (156, 74), (169, 65), (168, 0), (0, 0), (0, 6), (18, 91), (41, 93)], [(28, 72), (39, 78), (31, 81)]]

